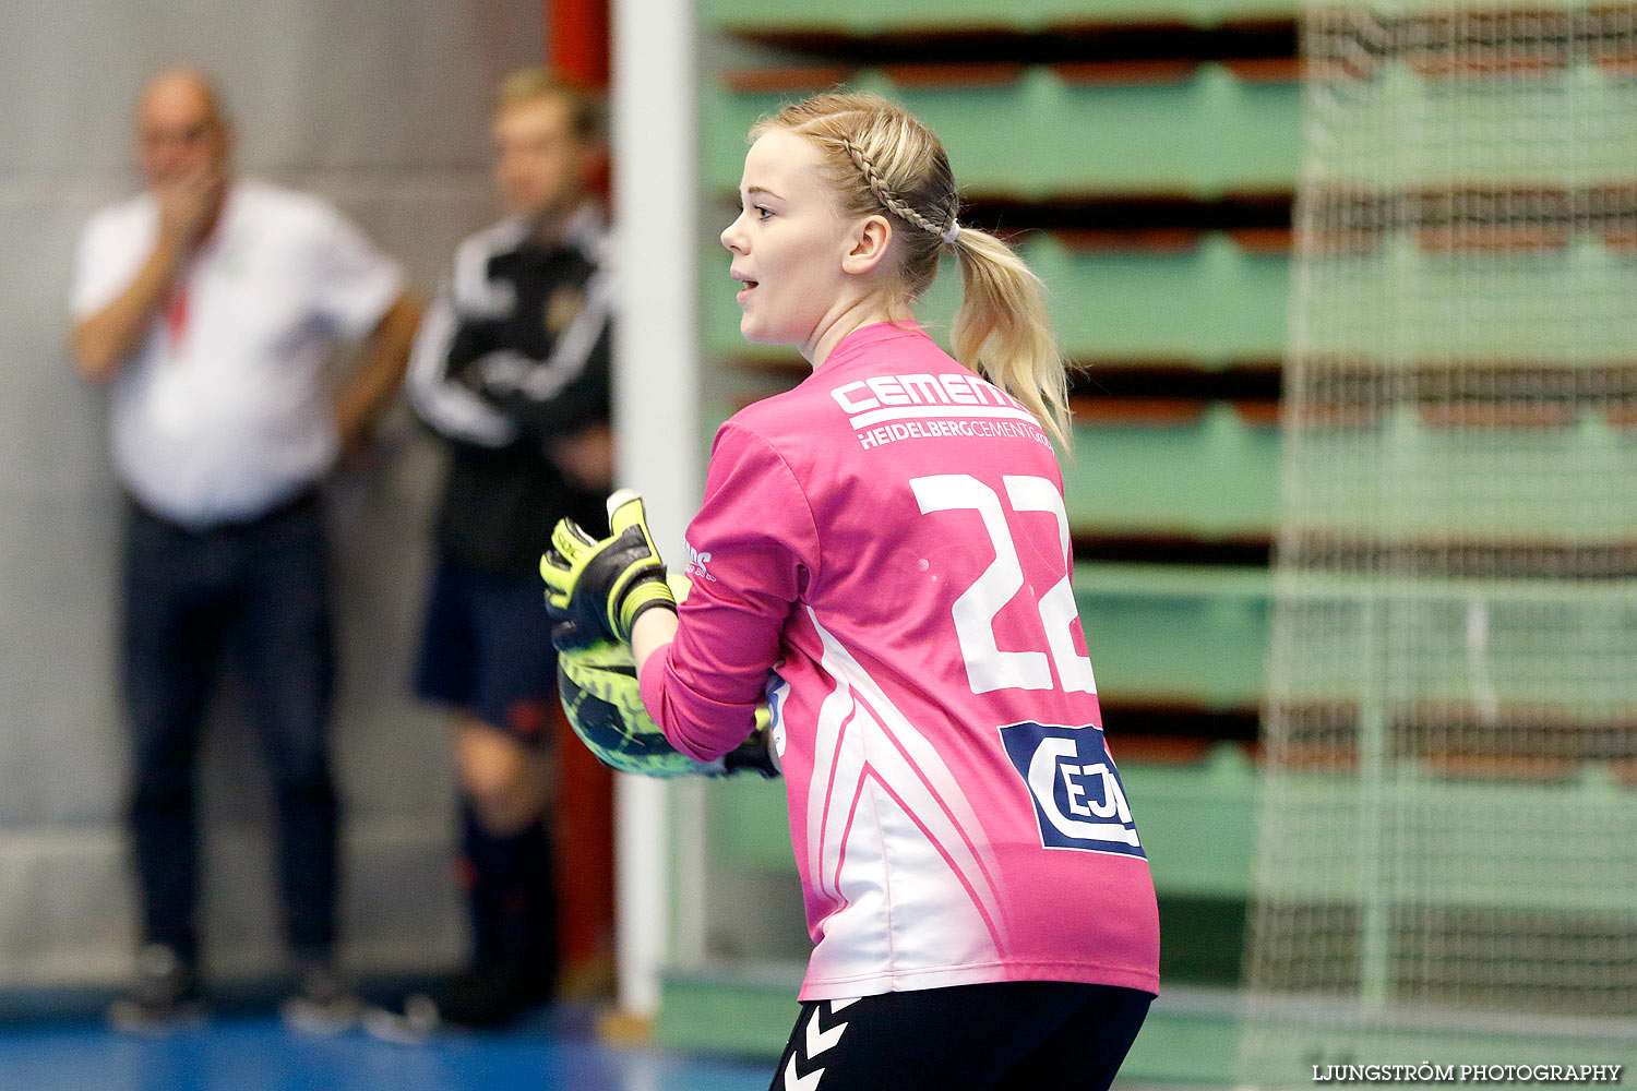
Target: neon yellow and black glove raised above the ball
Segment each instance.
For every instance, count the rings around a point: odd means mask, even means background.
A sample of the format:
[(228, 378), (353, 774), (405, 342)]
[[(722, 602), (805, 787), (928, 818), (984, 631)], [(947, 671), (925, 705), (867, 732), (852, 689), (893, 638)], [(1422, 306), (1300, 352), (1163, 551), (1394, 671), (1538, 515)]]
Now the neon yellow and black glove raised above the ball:
[(552, 550), (540, 558), (540, 576), (553, 617), (573, 622), (583, 636), (594, 633), (629, 644), (637, 617), (650, 607), (674, 610), (676, 597), (665, 582), (642, 497), (620, 489), (607, 505), (612, 533), (601, 541), (573, 520), (557, 523)]

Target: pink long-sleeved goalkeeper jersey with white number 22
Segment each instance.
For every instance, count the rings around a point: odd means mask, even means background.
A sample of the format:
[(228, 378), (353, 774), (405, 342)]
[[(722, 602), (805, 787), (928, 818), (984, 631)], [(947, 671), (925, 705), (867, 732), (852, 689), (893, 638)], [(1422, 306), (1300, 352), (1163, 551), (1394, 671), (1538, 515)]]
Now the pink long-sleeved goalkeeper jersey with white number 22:
[(688, 546), (692, 590), (643, 702), (701, 759), (771, 703), (815, 942), (802, 999), (1157, 991), (1062, 478), (1025, 409), (915, 327), (855, 330), (722, 425)]

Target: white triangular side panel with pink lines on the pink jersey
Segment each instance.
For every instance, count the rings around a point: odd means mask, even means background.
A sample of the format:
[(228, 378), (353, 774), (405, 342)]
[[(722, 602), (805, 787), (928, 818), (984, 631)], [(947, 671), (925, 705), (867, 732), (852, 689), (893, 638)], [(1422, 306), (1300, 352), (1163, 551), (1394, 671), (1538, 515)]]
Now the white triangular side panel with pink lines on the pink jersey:
[[(825, 939), (837, 941), (843, 957), (877, 944), (879, 954), (895, 962), (909, 955), (904, 965), (871, 967), (884, 972), (981, 959), (977, 949), (1003, 945), (1007, 923), (995, 890), (999, 869), (977, 813), (936, 748), (818, 623), (812, 607), (807, 615), (823, 641), (820, 666), (835, 679), (818, 710), (807, 798), (809, 878), (846, 903), (827, 921)], [(855, 905), (871, 882), (892, 891), (892, 906), (873, 913), (877, 906)], [(912, 908), (935, 908), (943, 919), (904, 919)], [(859, 913), (868, 919), (858, 919)], [(837, 918), (848, 916), (846, 927), (859, 932), (835, 936), (833, 926), (843, 924)], [(889, 924), (892, 936), (884, 931)], [(876, 931), (879, 937), (866, 936)], [(909, 936), (913, 941), (905, 944)], [(820, 945), (815, 957), (825, 954)]]

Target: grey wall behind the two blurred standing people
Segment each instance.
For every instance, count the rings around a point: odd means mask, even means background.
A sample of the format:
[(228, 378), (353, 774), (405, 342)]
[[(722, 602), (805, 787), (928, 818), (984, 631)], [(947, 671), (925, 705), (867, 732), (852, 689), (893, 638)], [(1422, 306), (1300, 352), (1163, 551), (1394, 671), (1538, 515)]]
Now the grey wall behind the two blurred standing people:
[[(435, 288), (493, 213), (488, 98), (542, 56), (542, 5), (108, 0), (0, 10), (0, 988), (113, 983), (134, 898), (120, 821), (118, 494), (103, 399), (64, 350), (74, 239), (136, 190), (131, 100), (214, 70), (242, 173), (322, 193)], [(444, 720), (409, 695), (437, 451), (399, 407), (332, 489), (347, 806), (344, 950), (360, 972), (460, 957)], [(226, 687), (205, 759), (206, 959), (282, 965), (267, 777)]]

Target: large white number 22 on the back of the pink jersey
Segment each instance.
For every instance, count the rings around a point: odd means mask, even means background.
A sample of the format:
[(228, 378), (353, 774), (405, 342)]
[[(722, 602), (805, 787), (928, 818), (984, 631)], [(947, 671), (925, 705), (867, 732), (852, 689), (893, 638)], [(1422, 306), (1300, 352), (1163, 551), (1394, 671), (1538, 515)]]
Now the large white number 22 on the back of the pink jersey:
[[(995, 548), (995, 559), (954, 600), (954, 633), (966, 659), (966, 677), (974, 694), (1000, 689), (1044, 690), (1053, 671), (1064, 692), (1095, 694), (1092, 661), (1074, 651), (1072, 625), (1079, 617), (1069, 584), (1069, 514), (1062, 496), (1046, 478), (1005, 476), (1007, 504), (971, 474), (933, 474), (910, 479), (923, 515), (931, 512), (977, 512)], [(995, 643), (995, 615), (1023, 590), (1023, 564), (1007, 520), (1012, 514), (1046, 514), (1058, 520), (1064, 574), (1035, 604), (1044, 630), (1046, 651), (1002, 651)]]

